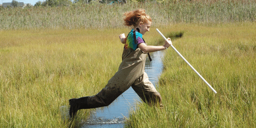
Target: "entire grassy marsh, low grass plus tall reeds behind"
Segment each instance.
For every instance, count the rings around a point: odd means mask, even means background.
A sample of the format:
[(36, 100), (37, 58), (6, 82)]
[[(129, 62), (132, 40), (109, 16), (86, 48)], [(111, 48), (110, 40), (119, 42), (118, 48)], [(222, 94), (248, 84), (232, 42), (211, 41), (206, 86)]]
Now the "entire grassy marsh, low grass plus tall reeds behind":
[[(0, 124), (6, 128), (77, 127), (62, 119), (68, 99), (94, 95), (117, 71), (125, 11), (152, 17), (148, 44), (183, 33), (171, 48), (158, 90), (165, 107), (139, 104), (126, 127), (254, 127), (256, 2), (172, 1), (115, 6), (0, 8)], [(97, 22), (95, 22), (97, 21)], [(157, 37), (157, 38), (156, 38)]]

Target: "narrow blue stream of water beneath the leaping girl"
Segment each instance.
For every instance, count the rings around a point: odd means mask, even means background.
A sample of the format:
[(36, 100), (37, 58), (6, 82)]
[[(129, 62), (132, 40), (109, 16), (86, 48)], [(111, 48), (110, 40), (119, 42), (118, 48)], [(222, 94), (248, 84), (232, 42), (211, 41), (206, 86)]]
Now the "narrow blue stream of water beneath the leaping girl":
[[(148, 74), (149, 80), (156, 86), (163, 69), (164, 52), (154, 52), (150, 56), (152, 61), (150, 62), (147, 58), (145, 72)], [(128, 118), (129, 111), (134, 109), (138, 102), (142, 101), (130, 87), (109, 106), (91, 111), (90, 117), (83, 122), (81, 128), (123, 128), (124, 117)]]

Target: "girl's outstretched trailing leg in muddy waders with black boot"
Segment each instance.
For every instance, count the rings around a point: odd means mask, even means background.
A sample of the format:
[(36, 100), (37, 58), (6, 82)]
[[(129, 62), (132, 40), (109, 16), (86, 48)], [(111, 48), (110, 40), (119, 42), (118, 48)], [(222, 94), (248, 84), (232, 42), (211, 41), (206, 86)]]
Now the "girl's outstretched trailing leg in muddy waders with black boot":
[[(120, 71), (119, 71), (120, 72)], [(81, 98), (73, 98), (69, 100), (70, 117), (74, 117), (80, 109), (90, 109), (104, 107), (111, 104), (119, 95), (125, 92), (134, 82), (127, 81), (129, 79), (122, 76), (122, 73), (117, 72), (109, 81), (108, 84), (98, 94), (94, 96), (86, 96)]]

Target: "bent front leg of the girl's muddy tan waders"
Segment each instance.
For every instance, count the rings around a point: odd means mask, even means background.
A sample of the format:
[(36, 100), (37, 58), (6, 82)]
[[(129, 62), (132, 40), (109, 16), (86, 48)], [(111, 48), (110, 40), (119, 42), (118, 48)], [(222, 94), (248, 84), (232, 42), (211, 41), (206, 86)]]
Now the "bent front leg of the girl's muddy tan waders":
[(149, 81), (147, 73), (144, 72), (144, 74), (134, 82), (132, 88), (145, 103), (148, 103), (150, 106), (159, 104), (160, 107), (163, 107), (162, 97)]

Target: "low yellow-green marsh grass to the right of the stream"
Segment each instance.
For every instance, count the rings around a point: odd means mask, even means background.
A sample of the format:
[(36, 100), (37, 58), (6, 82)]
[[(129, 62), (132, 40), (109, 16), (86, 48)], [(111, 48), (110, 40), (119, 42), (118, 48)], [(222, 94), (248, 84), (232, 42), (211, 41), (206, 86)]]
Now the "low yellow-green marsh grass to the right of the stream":
[(176, 24), (162, 33), (184, 31), (174, 47), (217, 94), (168, 49), (159, 92), (164, 108), (140, 104), (126, 127), (254, 127), (256, 86), (255, 23)]

